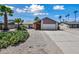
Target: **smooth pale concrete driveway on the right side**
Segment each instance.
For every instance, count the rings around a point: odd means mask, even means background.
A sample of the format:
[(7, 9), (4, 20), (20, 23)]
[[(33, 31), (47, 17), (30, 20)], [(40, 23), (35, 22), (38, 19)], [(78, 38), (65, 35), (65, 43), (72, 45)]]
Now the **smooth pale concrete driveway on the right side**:
[(63, 53), (79, 53), (79, 29), (69, 31), (43, 31), (62, 50)]

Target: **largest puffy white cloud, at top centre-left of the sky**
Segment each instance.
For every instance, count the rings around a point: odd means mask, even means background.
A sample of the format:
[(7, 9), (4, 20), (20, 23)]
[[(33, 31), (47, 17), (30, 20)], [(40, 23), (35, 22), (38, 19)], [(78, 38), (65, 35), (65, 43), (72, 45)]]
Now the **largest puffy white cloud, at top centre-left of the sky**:
[(24, 8), (17, 8), (16, 11), (21, 13), (21, 12), (29, 12), (29, 13), (36, 13), (36, 12), (41, 12), (44, 10), (44, 6), (42, 5), (37, 5), (37, 4), (32, 4), (29, 7), (25, 6)]

